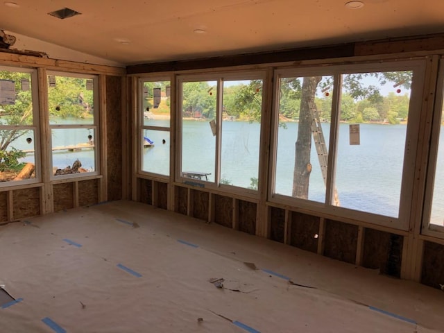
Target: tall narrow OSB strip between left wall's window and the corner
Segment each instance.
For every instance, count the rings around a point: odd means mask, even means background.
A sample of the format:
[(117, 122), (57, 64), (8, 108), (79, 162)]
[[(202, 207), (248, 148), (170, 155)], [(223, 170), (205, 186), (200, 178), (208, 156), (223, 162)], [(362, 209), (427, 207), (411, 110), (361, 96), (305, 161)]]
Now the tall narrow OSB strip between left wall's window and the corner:
[(121, 78), (106, 76), (106, 161), (108, 200), (122, 198)]

